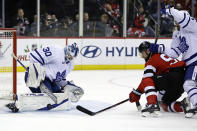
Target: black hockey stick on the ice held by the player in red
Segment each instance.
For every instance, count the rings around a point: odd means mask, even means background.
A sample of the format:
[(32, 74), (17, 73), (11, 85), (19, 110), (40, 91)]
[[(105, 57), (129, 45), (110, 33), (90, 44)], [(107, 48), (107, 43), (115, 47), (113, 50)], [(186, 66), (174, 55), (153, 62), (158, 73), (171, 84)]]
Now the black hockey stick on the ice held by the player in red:
[[(106, 110), (109, 110), (109, 109), (111, 109), (111, 108), (113, 108), (113, 107), (116, 107), (116, 106), (118, 106), (118, 105), (120, 105), (120, 104), (123, 104), (123, 103), (125, 103), (125, 102), (127, 102), (127, 101), (129, 101), (129, 98), (126, 99), (126, 100), (123, 100), (123, 101), (121, 101), (121, 102), (118, 102), (118, 103), (116, 103), (116, 104), (114, 104), (114, 105), (112, 105), (112, 106), (106, 107), (106, 108), (104, 108), (104, 109), (102, 109), (102, 110), (96, 111), (96, 112), (90, 111), (90, 110), (88, 110), (88, 109), (86, 109), (86, 108), (84, 108), (84, 107), (82, 107), (82, 106), (80, 106), (80, 105), (77, 105), (76, 108), (77, 108), (77, 110), (79, 110), (79, 111), (81, 111), (81, 112), (83, 112), (83, 113), (85, 113), (85, 114), (88, 114), (88, 115), (90, 115), (90, 116), (94, 116), (94, 115), (96, 115), (96, 114), (99, 114), (99, 113), (101, 113), (101, 112), (104, 112), (104, 111), (106, 111)], [(139, 101), (136, 102), (136, 106), (137, 106), (138, 110), (139, 110), (139, 109), (141, 110), (141, 105), (140, 105)]]

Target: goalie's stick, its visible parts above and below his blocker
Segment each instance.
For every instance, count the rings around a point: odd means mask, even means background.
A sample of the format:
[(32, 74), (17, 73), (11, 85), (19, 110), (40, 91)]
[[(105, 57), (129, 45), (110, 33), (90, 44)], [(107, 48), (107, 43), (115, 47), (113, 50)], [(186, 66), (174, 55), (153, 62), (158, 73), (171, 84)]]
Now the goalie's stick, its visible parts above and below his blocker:
[[(11, 55), (26, 71), (28, 71), (27, 67), (25, 67), (25, 65), (16, 57), (14, 52), (12, 52)], [(47, 94), (55, 102), (55, 104), (57, 104), (57, 97), (48, 88), (46, 88), (46, 86), (43, 83), (40, 86), (40, 90), (43, 93)]]

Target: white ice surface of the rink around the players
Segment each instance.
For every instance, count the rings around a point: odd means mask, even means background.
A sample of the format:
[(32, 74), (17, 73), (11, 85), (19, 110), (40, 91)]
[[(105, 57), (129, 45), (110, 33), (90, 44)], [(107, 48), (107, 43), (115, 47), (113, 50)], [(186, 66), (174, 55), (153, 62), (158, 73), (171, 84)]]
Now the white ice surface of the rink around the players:
[[(197, 116), (186, 119), (183, 113), (162, 112), (158, 118), (143, 118), (135, 104), (129, 102), (95, 116), (75, 109), (79, 104), (98, 111), (127, 99), (142, 74), (142, 70), (73, 71), (68, 80), (74, 80), (85, 94), (72, 110), (10, 113), (1, 108), (0, 131), (196, 131)], [(24, 73), (18, 73), (20, 93), (29, 92), (23, 76)], [(140, 102), (145, 104), (144, 96)]]

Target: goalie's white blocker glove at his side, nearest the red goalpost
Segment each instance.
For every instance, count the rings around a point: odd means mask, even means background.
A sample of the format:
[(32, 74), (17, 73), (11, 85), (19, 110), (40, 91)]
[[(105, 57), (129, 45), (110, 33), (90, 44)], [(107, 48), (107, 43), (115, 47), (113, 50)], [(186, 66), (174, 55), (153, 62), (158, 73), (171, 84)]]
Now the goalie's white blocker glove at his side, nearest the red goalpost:
[(25, 74), (26, 85), (37, 88), (40, 82), (45, 79), (45, 70), (39, 63), (33, 63)]

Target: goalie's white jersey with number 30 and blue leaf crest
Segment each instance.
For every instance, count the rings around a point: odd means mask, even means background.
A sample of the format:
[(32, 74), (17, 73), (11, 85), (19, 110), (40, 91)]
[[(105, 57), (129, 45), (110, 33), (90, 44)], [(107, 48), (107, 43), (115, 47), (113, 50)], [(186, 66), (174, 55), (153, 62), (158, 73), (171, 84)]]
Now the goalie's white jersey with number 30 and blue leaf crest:
[(30, 62), (42, 65), (45, 76), (59, 86), (66, 85), (66, 76), (74, 68), (73, 60), (65, 61), (64, 49), (52, 45), (31, 52)]

